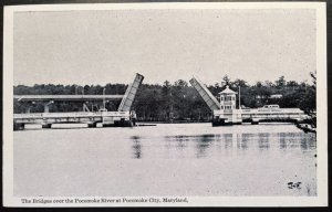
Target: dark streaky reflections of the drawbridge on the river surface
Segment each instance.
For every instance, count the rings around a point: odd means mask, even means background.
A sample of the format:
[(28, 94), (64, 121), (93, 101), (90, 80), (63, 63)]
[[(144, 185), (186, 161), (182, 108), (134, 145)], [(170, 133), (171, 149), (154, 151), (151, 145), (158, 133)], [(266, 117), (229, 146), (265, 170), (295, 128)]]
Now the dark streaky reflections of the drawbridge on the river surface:
[[(204, 135), (176, 135), (153, 138), (151, 142), (164, 142), (158, 145), (166, 158), (174, 153), (180, 153), (181, 158), (217, 158), (220, 153), (245, 153), (249, 149), (257, 153), (272, 150), (284, 151), (286, 149), (299, 149), (303, 152), (315, 150), (317, 142), (312, 139), (315, 135), (303, 132), (258, 132), (258, 134), (204, 134)], [(142, 137), (133, 136), (134, 158), (143, 158)], [(146, 138), (145, 138), (146, 141)], [(188, 149), (188, 150), (185, 150)], [(195, 151), (193, 151), (195, 150)], [(153, 151), (152, 148), (146, 151)], [(146, 152), (148, 156), (149, 152)]]

